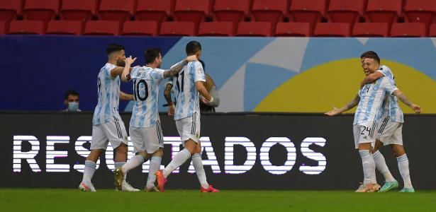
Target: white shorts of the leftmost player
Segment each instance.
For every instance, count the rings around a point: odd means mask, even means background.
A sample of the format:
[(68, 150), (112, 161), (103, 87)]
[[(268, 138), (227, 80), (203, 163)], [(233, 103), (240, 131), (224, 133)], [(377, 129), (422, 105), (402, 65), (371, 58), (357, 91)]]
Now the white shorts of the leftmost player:
[(127, 131), (120, 117), (112, 117), (109, 122), (92, 126), (91, 150), (104, 149), (111, 142), (113, 149), (125, 143), (127, 145)]

